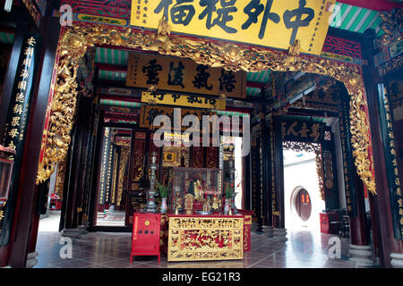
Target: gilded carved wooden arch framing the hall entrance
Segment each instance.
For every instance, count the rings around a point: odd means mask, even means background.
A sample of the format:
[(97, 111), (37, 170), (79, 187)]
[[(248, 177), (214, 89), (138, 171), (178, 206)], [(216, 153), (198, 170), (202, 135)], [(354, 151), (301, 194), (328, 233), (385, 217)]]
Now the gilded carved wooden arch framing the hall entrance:
[(54, 172), (56, 164), (63, 162), (67, 155), (77, 96), (78, 63), (89, 47), (99, 45), (158, 51), (161, 55), (190, 58), (196, 63), (223, 67), (231, 71), (306, 71), (342, 81), (351, 98), (351, 144), (356, 170), (367, 189), (373, 195), (376, 194), (367, 103), (359, 66), (299, 55), (297, 46), (291, 46), (287, 53), (257, 46), (208, 42), (201, 38), (170, 35), (166, 22), (161, 22), (158, 33), (79, 23), (62, 32), (59, 40), (56, 86), (50, 105), (50, 125), (44, 130), (46, 142), (42, 146), (44, 153), (39, 162), (37, 183), (46, 181)]

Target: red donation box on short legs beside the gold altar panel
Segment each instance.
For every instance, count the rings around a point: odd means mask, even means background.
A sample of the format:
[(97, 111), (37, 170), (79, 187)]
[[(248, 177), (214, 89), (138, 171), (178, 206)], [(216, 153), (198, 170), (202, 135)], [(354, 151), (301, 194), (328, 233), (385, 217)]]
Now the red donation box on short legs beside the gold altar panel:
[(161, 214), (133, 214), (132, 253), (133, 256), (159, 256), (159, 233)]

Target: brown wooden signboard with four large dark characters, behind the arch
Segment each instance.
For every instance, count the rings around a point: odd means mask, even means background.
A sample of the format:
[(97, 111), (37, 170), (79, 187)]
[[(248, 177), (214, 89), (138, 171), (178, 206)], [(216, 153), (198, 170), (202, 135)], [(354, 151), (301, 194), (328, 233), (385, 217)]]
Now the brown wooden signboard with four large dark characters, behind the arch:
[(188, 59), (129, 55), (126, 85), (227, 97), (246, 96), (246, 72), (211, 68)]

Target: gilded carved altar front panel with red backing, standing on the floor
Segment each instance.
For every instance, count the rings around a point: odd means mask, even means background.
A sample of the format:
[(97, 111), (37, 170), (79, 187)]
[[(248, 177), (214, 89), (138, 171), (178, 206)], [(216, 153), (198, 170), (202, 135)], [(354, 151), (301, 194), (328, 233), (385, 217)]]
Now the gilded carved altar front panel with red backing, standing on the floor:
[(169, 216), (167, 261), (244, 257), (244, 218)]

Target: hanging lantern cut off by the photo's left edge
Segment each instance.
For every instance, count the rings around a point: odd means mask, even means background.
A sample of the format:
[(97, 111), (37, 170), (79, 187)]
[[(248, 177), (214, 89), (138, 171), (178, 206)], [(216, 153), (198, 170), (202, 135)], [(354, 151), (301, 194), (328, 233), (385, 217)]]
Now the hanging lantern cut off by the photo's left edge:
[(14, 164), (8, 158), (14, 155), (14, 150), (0, 145), (0, 207), (4, 206), (8, 199)]

